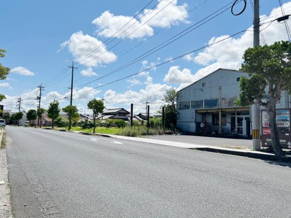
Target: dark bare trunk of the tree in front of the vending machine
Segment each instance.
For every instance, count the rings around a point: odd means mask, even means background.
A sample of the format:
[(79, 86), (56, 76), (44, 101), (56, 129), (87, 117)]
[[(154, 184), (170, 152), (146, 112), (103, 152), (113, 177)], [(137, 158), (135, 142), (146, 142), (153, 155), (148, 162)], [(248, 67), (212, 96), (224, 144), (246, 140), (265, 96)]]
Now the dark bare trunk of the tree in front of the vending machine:
[(284, 152), (280, 145), (280, 139), (279, 139), (279, 134), (277, 130), (275, 108), (276, 108), (276, 101), (274, 100), (272, 101), (272, 103), (270, 102), (267, 108), (268, 113), (269, 113), (269, 122), (270, 122), (270, 128), (271, 128), (272, 146), (273, 146), (273, 151), (275, 155), (284, 156)]

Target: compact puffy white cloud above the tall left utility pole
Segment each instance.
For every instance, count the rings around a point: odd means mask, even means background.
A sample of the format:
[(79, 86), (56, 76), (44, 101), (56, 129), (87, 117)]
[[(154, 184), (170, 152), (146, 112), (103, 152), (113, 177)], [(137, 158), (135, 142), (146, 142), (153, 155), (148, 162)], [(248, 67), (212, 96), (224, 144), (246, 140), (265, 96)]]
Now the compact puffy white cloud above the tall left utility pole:
[(101, 41), (88, 34), (84, 35), (82, 31), (73, 33), (69, 40), (61, 44), (61, 47), (68, 47), (76, 61), (85, 57), (87, 54), (92, 52), (93, 49), (98, 47), (95, 51), (96, 53), (90, 54), (90, 57), (81, 61), (82, 64), (85, 63), (88, 67), (97, 66), (102, 63), (110, 63), (117, 60), (117, 56), (113, 52), (107, 51), (106, 46), (104, 46)]

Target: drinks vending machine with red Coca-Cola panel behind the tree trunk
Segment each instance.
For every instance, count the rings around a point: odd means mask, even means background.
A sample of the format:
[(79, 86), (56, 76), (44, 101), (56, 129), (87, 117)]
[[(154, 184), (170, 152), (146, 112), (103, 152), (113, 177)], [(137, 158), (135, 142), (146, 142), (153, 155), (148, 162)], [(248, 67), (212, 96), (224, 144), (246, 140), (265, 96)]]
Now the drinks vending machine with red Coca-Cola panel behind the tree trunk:
[[(266, 109), (261, 111), (262, 146), (272, 147), (271, 129), (269, 126), (269, 114)], [(290, 130), (291, 109), (276, 109), (276, 124), (282, 148), (291, 148), (291, 130)]]

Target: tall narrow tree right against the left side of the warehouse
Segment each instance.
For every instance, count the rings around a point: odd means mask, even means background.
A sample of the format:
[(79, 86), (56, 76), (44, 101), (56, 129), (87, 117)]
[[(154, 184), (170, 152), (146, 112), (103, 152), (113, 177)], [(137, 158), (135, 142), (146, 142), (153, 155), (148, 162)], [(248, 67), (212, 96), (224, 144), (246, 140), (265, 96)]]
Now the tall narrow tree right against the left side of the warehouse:
[[(163, 94), (162, 99), (166, 105), (165, 107), (165, 118), (164, 118), (164, 125), (167, 129), (174, 129), (177, 123), (177, 92), (176, 89), (172, 88), (170, 90), (166, 90)], [(161, 107), (161, 108), (162, 108)], [(161, 111), (158, 111), (162, 114)]]

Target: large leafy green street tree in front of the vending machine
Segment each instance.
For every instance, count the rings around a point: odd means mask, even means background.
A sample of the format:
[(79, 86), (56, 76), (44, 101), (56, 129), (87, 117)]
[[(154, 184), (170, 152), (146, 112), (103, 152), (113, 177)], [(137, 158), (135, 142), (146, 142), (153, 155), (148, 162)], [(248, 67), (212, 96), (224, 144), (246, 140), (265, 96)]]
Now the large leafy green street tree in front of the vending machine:
[(267, 109), (274, 153), (283, 156), (275, 108), (281, 92), (291, 90), (291, 43), (282, 41), (271, 46), (248, 48), (243, 59), (240, 70), (250, 73), (250, 78), (241, 78), (241, 93), (236, 105), (248, 106), (256, 99)]

